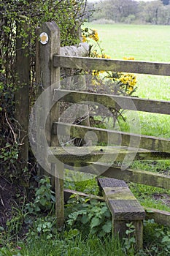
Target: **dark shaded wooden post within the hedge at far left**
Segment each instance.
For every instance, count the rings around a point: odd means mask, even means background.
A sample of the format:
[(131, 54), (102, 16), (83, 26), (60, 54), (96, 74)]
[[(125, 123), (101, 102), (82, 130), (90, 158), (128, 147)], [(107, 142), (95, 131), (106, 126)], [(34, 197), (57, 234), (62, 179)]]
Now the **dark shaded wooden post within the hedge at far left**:
[[(29, 116), (29, 84), (30, 84), (30, 63), (29, 47), (27, 38), (19, 37), (20, 31), (28, 31), (28, 18), (20, 16), (17, 23), (16, 39), (16, 71), (18, 75), (19, 88), (15, 91), (15, 119), (20, 125), (20, 159), (21, 167), (28, 167), (28, 116)], [(26, 45), (25, 45), (25, 42)]]

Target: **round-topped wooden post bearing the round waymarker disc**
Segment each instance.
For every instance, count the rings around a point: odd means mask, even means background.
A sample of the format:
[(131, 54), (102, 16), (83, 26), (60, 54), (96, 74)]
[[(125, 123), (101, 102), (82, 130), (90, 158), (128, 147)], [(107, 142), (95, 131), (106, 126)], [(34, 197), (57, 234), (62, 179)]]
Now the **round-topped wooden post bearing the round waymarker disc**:
[[(59, 86), (60, 81), (60, 68), (53, 67), (53, 55), (60, 53), (60, 30), (55, 22), (43, 23), (39, 28), (40, 41), (38, 46), (38, 53), (36, 58), (36, 70), (39, 75), (39, 94), (41, 94), (48, 87), (51, 88), (47, 101), (43, 102), (42, 108), (50, 105), (50, 100), (53, 100), (53, 89)], [(55, 85), (55, 86), (52, 86)], [(46, 106), (45, 106), (46, 105)], [(48, 106), (47, 106), (48, 108)], [(50, 113), (47, 117), (45, 132), (42, 130), (42, 134), (38, 135), (39, 140), (47, 139), (49, 146), (58, 146), (58, 139), (53, 138), (53, 122), (58, 121), (59, 107), (55, 105), (50, 109)], [(38, 124), (41, 126), (43, 116), (37, 116)], [(42, 145), (43, 146), (43, 145)], [(58, 227), (63, 226), (63, 165), (56, 166), (51, 165), (51, 173), (54, 173), (55, 177), (51, 177), (52, 186), (55, 187), (55, 210), (57, 217)], [(55, 185), (55, 186), (54, 186)]]

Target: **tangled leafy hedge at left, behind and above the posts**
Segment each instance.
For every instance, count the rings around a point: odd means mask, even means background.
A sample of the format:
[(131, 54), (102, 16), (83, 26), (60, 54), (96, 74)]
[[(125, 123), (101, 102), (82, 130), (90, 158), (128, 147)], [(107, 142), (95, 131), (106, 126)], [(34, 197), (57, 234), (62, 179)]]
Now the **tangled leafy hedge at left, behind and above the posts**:
[[(36, 97), (37, 85), (35, 58), (36, 58), (36, 28), (45, 21), (55, 21), (61, 28), (61, 45), (72, 45), (80, 42), (80, 26), (85, 15), (85, 0), (5, 0), (0, 2), (0, 150), (4, 150), (6, 143), (11, 145), (11, 151), (2, 152), (2, 170), (13, 170), (20, 176), (20, 159), (13, 164), (15, 146), (23, 143), (20, 138), (22, 127), (15, 120), (15, 91), (23, 86), (18, 82), (16, 70), (16, 43), (23, 40), (22, 48), (28, 48), (30, 57), (30, 105)], [(27, 26), (22, 26), (26, 23)], [(12, 146), (14, 148), (12, 148)], [(20, 147), (18, 147), (20, 151)], [(13, 152), (12, 152), (13, 151)], [(7, 154), (10, 161), (5, 161)], [(16, 154), (15, 154), (16, 155)], [(12, 162), (11, 162), (12, 158)], [(19, 166), (18, 166), (19, 165)]]

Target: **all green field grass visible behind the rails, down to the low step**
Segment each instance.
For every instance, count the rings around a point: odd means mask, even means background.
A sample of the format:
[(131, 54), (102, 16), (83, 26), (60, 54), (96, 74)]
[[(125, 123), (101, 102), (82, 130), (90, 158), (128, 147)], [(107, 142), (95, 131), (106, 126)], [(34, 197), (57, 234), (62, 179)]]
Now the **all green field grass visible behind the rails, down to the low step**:
[[(101, 48), (112, 59), (134, 57), (139, 61), (170, 62), (170, 26), (93, 23), (85, 23), (84, 26), (98, 31)], [(136, 78), (137, 89), (134, 95), (137, 97), (170, 100), (170, 77), (136, 74)], [(120, 118), (119, 129), (129, 131), (128, 121), (131, 124), (131, 113), (133, 112), (126, 111), (126, 122)], [(138, 112), (138, 116), (142, 135), (170, 138), (170, 116), (144, 112)], [(148, 171), (169, 171), (169, 165), (170, 161), (166, 160), (158, 161), (156, 165), (152, 165), (152, 162), (134, 162), (131, 167)], [(165, 189), (139, 184), (131, 185), (131, 189), (142, 205), (170, 211), (170, 207), (164, 205), (161, 200), (152, 198), (154, 193), (169, 193)]]

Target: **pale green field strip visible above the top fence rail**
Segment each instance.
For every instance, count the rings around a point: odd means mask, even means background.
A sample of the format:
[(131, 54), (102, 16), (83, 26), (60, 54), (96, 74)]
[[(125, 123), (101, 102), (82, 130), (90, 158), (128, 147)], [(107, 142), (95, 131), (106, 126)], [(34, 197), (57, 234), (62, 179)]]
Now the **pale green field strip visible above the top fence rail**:
[(134, 56), (140, 61), (170, 61), (170, 26), (93, 24), (98, 31), (101, 47), (113, 59)]

